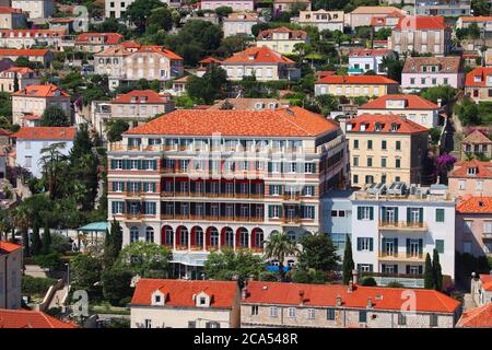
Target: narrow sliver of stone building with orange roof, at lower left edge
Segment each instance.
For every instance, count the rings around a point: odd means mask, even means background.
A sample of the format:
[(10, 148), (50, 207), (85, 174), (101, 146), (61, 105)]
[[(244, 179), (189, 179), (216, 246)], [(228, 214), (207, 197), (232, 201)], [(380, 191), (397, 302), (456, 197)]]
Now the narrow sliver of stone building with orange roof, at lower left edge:
[(22, 245), (0, 241), (0, 315), (2, 308), (21, 307), (22, 257)]

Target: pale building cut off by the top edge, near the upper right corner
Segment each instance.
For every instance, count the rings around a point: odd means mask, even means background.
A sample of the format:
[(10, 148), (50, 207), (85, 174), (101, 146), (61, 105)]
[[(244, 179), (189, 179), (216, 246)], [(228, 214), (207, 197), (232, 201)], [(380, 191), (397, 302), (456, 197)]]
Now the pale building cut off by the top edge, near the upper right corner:
[(471, 14), (471, 0), (415, 0), (417, 15), (459, 18)]

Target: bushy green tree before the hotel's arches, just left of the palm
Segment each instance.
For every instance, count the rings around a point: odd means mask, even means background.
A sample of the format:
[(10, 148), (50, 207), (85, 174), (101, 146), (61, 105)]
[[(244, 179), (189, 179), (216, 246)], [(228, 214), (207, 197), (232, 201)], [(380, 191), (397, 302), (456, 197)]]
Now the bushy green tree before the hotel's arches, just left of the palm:
[(265, 260), (249, 250), (224, 248), (209, 254), (203, 272), (207, 279), (213, 280), (246, 280), (251, 276), (258, 279), (265, 266)]

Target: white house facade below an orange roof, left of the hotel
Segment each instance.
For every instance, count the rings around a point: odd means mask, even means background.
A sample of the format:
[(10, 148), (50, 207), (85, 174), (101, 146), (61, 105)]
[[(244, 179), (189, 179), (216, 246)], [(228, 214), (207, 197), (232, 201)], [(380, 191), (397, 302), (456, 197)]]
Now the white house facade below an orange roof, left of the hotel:
[(54, 143), (65, 142), (65, 148), (60, 152), (65, 155), (70, 154), (73, 147), (73, 140), (20, 140), (16, 141), (16, 160), (15, 163), (28, 170), (34, 177), (39, 178), (43, 175), (43, 164), (40, 159), (43, 156), (42, 149), (47, 148)]

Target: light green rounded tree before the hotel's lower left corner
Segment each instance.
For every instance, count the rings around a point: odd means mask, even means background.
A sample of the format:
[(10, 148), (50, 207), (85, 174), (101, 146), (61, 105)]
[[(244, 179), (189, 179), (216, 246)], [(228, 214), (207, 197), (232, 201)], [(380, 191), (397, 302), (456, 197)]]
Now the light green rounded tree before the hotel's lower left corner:
[(134, 242), (122, 248), (115, 267), (131, 271), (141, 277), (167, 276), (171, 250), (151, 242)]

